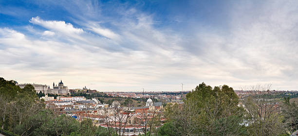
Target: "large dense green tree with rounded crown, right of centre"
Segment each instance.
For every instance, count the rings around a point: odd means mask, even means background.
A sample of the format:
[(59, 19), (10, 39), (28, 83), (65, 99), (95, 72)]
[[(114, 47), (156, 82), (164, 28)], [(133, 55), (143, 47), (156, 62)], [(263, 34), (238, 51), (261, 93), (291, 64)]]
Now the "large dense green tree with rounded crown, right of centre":
[(186, 95), (183, 105), (169, 104), (166, 118), (178, 136), (243, 136), (244, 109), (233, 88), (202, 83)]

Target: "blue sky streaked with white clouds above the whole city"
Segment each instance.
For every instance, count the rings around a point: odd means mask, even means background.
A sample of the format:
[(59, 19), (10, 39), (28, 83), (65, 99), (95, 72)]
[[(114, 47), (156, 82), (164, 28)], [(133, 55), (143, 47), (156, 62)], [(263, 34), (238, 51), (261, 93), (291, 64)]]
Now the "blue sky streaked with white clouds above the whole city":
[(0, 77), (99, 91), (298, 90), (298, 0), (0, 0)]

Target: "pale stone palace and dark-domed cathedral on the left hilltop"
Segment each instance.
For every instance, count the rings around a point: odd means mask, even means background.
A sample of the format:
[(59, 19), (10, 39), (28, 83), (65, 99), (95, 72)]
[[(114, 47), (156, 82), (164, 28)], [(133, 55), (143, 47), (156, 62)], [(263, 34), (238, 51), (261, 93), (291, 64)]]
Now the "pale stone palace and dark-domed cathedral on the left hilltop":
[[(29, 85), (29, 84), (16, 84), (18, 85), (20, 88), (24, 88), (25, 85)], [(55, 85), (55, 83), (53, 83), (53, 89), (50, 88), (50, 86), (47, 85), (38, 85), (38, 84), (30, 84), (33, 85), (36, 92), (39, 93), (40, 91), (44, 94), (68, 94), (70, 93), (69, 89), (67, 86), (64, 86), (62, 83), (62, 80), (59, 82), (58, 85)]]

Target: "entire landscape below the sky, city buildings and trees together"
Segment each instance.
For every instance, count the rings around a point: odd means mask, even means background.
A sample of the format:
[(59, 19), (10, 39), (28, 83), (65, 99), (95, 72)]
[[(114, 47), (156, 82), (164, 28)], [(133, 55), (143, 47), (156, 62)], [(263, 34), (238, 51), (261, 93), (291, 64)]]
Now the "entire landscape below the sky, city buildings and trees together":
[[(298, 91), (202, 83), (180, 92), (99, 92), (0, 78), (6, 136), (290, 136)], [(296, 131), (296, 134), (294, 134)]]

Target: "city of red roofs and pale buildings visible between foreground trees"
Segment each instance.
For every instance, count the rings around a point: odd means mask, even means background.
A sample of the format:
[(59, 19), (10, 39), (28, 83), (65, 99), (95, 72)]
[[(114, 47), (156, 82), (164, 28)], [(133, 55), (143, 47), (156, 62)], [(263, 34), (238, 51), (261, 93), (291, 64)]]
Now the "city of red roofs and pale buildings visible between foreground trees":
[[(16, 81), (14, 83), (22, 89), (32, 85), (33, 91), (45, 104), (45, 108), (53, 110), (57, 115), (67, 115), (78, 121), (90, 119), (93, 125), (112, 128), (122, 136), (140, 136), (148, 133), (153, 129), (150, 125), (146, 128), (147, 123), (152, 123), (150, 121), (159, 122), (154, 124), (154, 129), (161, 127), (166, 122), (164, 112), (168, 106), (174, 104), (178, 107), (184, 106), (187, 93), (194, 91), (100, 92), (88, 89), (86, 86), (82, 89), (68, 89), (62, 80), (58, 85), (54, 82), (52, 88), (49, 85), (34, 83), (19, 84)], [(265, 86), (270, 85), (259, 88)], [(264, 90), (264, 88), (257, 90), (258, 86), (254, 87), (252, 90), (234, 90), (240, 100), (239, 107), (245, 107), (244, 100), (251, 96), (270, 95), (271, 98), (266, 101), (273, 101), (272, 98), (291, 97), (289, 100), (298, 102), (298, 91)], [(269, 102), (266, 106), (272, 106), (272, 112), (281, 113), (283, 102), (278, 100), (280, 99)]]

